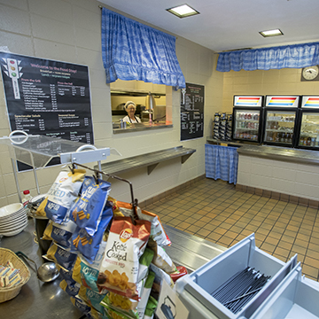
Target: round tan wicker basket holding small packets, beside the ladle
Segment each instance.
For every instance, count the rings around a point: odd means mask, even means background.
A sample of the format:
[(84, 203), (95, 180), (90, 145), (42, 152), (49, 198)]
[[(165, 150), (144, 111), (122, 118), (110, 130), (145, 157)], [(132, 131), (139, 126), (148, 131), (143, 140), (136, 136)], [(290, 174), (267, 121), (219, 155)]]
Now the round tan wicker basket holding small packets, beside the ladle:
[(21, 283), (16, 286), (9, 288), (0, 287), (0, 303), (6, 300), (12, 300), (16, 297), (22, 286), (27, 284), (27, 281), (30, 279), (30, 271), (23, 261), (21, 261), (18, 256), (13, 253), (10, 249), (0, 248), (0, 264), (4, 265), (7, 261), (12, 262), (13, 268), (19, 269), (19, 275), (22, 278)]

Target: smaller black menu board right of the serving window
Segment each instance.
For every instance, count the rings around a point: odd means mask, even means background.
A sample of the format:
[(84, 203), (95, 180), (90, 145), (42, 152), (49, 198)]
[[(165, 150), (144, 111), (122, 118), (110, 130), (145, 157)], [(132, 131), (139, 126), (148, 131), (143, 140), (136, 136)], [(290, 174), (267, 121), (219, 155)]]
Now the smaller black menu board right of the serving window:
[(181, 141), (203, 137), (204, 86), (186, 83), (181, 92)]

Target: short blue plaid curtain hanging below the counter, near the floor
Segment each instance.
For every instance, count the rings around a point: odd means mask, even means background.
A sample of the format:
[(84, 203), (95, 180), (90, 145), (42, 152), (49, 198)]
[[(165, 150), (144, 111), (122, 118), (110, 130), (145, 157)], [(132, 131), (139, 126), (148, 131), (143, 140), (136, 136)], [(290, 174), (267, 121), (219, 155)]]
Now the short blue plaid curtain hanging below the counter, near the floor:
[(206, 177), (237, 183), (237, 147), (205, 144)]

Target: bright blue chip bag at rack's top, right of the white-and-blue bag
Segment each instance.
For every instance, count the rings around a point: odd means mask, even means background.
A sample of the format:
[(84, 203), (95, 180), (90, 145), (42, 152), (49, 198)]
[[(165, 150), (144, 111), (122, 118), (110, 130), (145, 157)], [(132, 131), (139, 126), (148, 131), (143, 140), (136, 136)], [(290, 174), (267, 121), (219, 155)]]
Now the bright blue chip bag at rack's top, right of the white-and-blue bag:
[(70, 210), (70, 219), (80, 228), (85, 229), (89, 236), (94, 236), (101, 221), (111, 184), (92, 176), (86, 176), (82, 186), (81, 197)]

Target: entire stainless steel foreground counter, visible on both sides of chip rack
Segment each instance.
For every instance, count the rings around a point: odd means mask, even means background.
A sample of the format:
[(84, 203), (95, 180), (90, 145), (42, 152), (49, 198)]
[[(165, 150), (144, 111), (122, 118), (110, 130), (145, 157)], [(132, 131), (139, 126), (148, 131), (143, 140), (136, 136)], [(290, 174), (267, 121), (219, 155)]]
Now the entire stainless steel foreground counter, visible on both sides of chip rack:
[[(182, 265), (189, 271), (197, 269), (226, 250), (221, 245), (215, 245), (205, 239), (175, 230), (173, 227), (164, 225), (164, 228), (172, 241), (172, 245), (167, 246), (165, 250), (177, 266)], [(14, 253), (18, 251), (25, 253), (39, 267), (43, 261), (39, 247), (34, 241), (34, 231), (35, 222), (29, 220), (26, 230), (14, 237), (3, 237), (0, 246), (11, 249)], [(82, 317), (82, 312), (74, 307), (66, 292), (59, 288), (61, 280), (59, 277), (52, 283), (44, 284), (36, 278), (35, 271), (29, 269), (31, 272), (29, 281), (16, 298), (0, 303), (0, 314), (14, 319)]]

